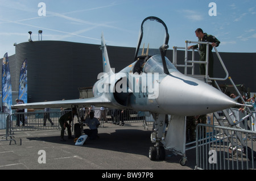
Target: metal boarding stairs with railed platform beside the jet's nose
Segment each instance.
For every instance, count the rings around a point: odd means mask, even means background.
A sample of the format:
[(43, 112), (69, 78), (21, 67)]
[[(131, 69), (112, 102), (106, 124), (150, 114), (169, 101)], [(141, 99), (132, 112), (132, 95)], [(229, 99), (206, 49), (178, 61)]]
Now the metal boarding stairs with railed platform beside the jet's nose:
[[(192, 49), (192, 60), (188, 60), (188, 44), (206, 44), (207, 45), (207, 52), (206, 52), (206, 60), (205, 61), (196, 61), (195, 60), (195, 52), (199, 52), (198, 49)], [(181, 67), (184, 68), (184, 74), (189, 76), (189, 77), (193, 77), (193, 78), (197, 78), (200, 79), (201, 81), (204, 81), (206, 83), (210, 83), (212, 85), (214, 85), (218, 90), (221, 91), (220, 87), (217, 84), (217, 81), (226, 81), (226, 79), (229, 79), (229, 81), (231, 82), (232, 86), (234, 87), (234, 90), (236, 91), (236, 94), (238, 95), (236, 100), (241, 98), (243, 104), (245, 103), (245, 100), (243, 100), (242, 95), (240, 93), (240, 91), (238, 91), (236, 85), (234, 84), (234, 82), (232, 81), (232, 78), (229, 77), (229, 73), (228, 70), (226, 69), (224, 62), (222, 61), (220, 54), (217, 51), (216, 47), (213, 47), (218, 60), (220, 61), (222, 68), (224, 69), (225, 73), (226, 73), (226, 77), (224, 78), (212, 78), (208, 76), (208, 57), (209, 57), (209, 45), (212, 45), (212, 43), (210, 42), (199, 42), (199, 41), (185, 41), (185, 47), (174, 47), (174, 52), (173, 52), (173, 64), (174, 66), (177, 67)], [(183, 49), (185, 50), (185, 58), (184, 58), (184, 64), (177, 64), (177, 49)], [(200, 52), (199, 52), (200, 53)], [(206, 64), (206, 73), (205, 75), (196, 75), (195, 74), (195, 64)], [(191, 74), (188, 74), (188, 68), (191, 68)], [(231, 127), (231, 128), (240, 128), (239, 124), (242, 123), (242, 121), (247, 121), (247, 119), (249, 117), (251, 117), (251, 123), (252, 125), (255, 124), (255, 117), (253, 115), (253, 113), (251, 113), (250, 108), (249, 107), (245, 107), (245, 111), (247, 112), (247, 115), (245, 117), (242, 117), (242, 119), (238, 120), (236, 115), (234, 114), (234, 112), (232, 111), (231, 108), (226, 109), (226, 110), (222, 110), (222, 115), (224, 116), (220, 116), (218, 112), (213, 112), (214, 117), (216, 118), (218, 124), (222, 127)], [(233, 118), (232, 118), (233, 117)], [(254, 129), (254, 127), (253, 127)], [(253, 130), (252, 129), (252, 130)], [(254, 131), (254, 130), (253, 130)], [(226, 136), (230, 135), (227, 132), (225, 132)], [(241, 142), (241, 144), (243, 146), (245, 146), (245, 141), (243, 141), (242, 135), (241, 133), (239, 133), (240, 135), (238, 136), (239, 141)], [(229, 141), (230, 143), (234, 143), (234, 141), (232, 140), (231, 137), (229, 137)]]

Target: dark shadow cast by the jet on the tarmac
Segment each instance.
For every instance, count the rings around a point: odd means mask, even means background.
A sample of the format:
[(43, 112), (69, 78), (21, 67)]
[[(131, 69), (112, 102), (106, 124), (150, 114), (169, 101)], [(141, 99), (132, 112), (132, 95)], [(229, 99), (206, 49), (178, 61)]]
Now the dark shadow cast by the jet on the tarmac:
[[(105, 127), (106, 128), (106, 127)], [(122, 129), (115, 129), (113, 132), (104, 132), (105, 128), (100, 128), (98, 133), (99, 137), (97, 140), (86, 140), (82, 147), (100, 149), (102, 153), (104, 150), (118, 151), (127, 154), (143, 155), (148, 157), (148, 150), (153, 144), (150, 140), (151, 131), (143, 131), (138, 129), (130, 128), (129, 125), (122, 127)], [(127, 128), (127, 129), (126, 129)], [(65, 139), (67, 141), (60, 141), (60, 136), (45, 136), (45, 137), (27, 137), (28, 140), (46, 141), (55, 144), (65, 144), (75, 146), (73, 140), (68, 140), (67, 135)], [(195, 168), (196, 156), (195, 150), (186, 151), (188, 162), (185, 166)], [(148, 158), (149, 159), (149, 158)], [(164, 161), (156, 160), (154, 162), (167, 162), (167, 163), (179, 163), (181, 155), (175, 155), (169, 150), (166, 150), (166, 159)], [(152, 161), (153, 162), (153, 161)]]

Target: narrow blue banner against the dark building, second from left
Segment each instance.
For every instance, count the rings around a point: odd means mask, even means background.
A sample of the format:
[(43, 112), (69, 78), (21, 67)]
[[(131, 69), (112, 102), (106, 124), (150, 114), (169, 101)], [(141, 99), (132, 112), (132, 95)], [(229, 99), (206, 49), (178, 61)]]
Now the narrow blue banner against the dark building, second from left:
[(19, 100), (27, 103), (27, 59), (22, 63), (19, 76)]

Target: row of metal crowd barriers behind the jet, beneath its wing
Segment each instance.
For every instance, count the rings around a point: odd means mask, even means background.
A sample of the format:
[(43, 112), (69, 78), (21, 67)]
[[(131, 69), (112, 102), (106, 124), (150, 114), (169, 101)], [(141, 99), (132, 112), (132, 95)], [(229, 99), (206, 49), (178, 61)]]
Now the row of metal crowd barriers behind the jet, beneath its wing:
[[(67, 110), (68, 111), (68, 110)], [(132, 122), (143, 122), (145, 127), (152, 120), (150, 117), (144, 116), (144, 112), (141, 111), (130, 111), (130, 110), (113, 110), (113, 109), (94, 109), (94, 117), (100, 120), (101, 127), (104, 127), (104, 123), (122, 124), (122, 123), (132, 123)], [(60, 111), (60, 109), (52, 109), (49, 112), (44, 112), (44, 110), (36, 110), (32, 112), (15, 112), (10, 116), (9, 131), (36, 131), (36, 130), (46, 130), (46, 129), (60, 129), (59, 117), (63, 115), (65, 111)], [(8, 114), (0, 114), (1, 129), (6, 129), (6, 116)], [(82, 118), (88, 116), (88, 110), (80, 110), (80, 115)], [(148, 121), (146, 121), (148, 120)], [(73, 124), (78, 123), (78, 119), (75, 116)]]

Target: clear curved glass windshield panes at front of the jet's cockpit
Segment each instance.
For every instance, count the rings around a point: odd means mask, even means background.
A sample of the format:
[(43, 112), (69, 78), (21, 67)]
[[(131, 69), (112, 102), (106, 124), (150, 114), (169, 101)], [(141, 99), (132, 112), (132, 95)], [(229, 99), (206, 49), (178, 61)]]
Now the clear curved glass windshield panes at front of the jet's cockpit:
[[(170, 62), (170, 60), (168, 60), (167, 57), (166, 57), (166, 65), (169, 70), (169, 73), (172, 73), (173, 71), (178, 71), (175, 68), (175, 66)], [(148, 59), (148, 61), (144, 65), (143, 72), (144, 73), (159, 73), (159, 74), (164, 73), (163, 61), (162, 61), (160, 54), (156, 54), (155, 56), (152, 56), (150, 59)]]

